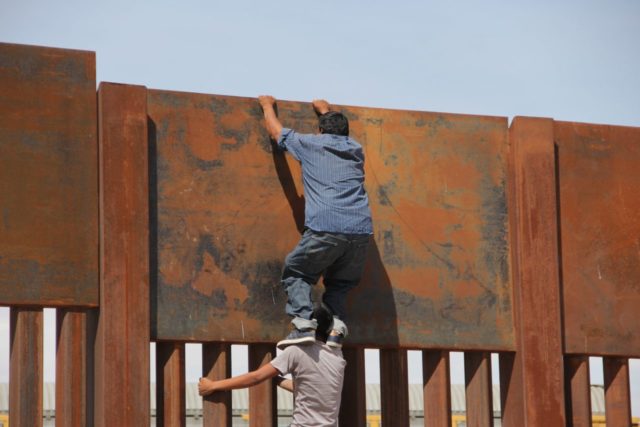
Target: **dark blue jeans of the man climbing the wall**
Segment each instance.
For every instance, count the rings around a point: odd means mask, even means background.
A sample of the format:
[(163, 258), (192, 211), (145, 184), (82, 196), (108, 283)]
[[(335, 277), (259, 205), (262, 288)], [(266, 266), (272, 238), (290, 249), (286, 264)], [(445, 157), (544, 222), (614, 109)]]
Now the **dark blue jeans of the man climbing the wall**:
[(362, 277), (367, 247), (367, 234), (319, 233), (306, 229), (298, 246), (285, 259), (282, 286), (287, 292), (286, 312), (297, 329), (317, 327), (312, 319), (311, 286), (324, 274), (322, 302), (333, 311), (333, 327), (347, 336), (345, 301), (347, 292)]

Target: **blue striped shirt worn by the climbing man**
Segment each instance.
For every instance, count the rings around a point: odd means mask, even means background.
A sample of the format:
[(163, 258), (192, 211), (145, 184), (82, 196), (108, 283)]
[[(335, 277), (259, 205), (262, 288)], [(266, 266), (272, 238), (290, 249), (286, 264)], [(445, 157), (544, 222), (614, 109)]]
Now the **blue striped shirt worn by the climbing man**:
[(313, 231), (372, 234), (364, 188), (364, 152), (348, 136), (299, 134), (283, 128), (278, 147), (302, 166), (304, 225)]

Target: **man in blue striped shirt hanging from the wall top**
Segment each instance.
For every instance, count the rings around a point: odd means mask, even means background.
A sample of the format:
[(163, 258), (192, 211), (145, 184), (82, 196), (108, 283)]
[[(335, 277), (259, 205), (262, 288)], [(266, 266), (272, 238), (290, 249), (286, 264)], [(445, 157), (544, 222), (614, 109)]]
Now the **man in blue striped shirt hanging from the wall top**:
[(300, 134), (282, 126), (275, 99), (258, 98), (269, 136), (277, 148), (289, 152), (302, 167), (305, 196), (304, 233), (287, 255), (282, 285), (291, 333), (277, 346), (313, 343), (318, 324), (312, 318), (311, 287), (324, 276), (322, 301), (334, 313), (327, 345), (342, 347), (347, 292), (362, 277), (367, 246), (373, 233), (369, 199), (364, 188), (364, 152), (349, 137), (344, 114), (330, 111), (325, 100), (314, 100), (319, 133)]

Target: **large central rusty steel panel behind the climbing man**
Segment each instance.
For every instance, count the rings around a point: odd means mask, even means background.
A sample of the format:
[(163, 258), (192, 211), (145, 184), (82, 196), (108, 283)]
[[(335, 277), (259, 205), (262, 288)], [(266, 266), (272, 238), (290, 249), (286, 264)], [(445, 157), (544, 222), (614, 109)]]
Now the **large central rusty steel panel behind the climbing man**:
[[(339, 109), (365, 149), (375, 228), (350, 343), (513, 349), (506, 119)], [(278, 110), (317, 128), (310, 104)], [(304, 217), (297, 162), (272, 151), (255, 99), (150, 90), (148, 113), (153, 335), (279, 340), (280, 271)]]

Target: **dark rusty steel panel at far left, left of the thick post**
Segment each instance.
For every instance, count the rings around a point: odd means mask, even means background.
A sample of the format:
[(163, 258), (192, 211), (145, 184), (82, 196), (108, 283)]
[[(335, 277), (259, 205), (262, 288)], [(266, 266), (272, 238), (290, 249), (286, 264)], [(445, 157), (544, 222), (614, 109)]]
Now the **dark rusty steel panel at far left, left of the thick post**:
[(95, 54), (0, 43), (0, 305), (98, 304)]

